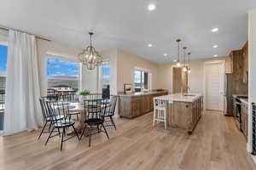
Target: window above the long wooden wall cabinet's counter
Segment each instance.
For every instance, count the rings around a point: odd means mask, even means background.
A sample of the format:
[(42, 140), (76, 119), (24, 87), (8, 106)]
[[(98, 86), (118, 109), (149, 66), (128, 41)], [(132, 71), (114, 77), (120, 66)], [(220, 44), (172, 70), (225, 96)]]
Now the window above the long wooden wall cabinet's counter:
[(143, 92), (150, 90), (150, 73), (140, 69), (134, 71), (134, 90)]

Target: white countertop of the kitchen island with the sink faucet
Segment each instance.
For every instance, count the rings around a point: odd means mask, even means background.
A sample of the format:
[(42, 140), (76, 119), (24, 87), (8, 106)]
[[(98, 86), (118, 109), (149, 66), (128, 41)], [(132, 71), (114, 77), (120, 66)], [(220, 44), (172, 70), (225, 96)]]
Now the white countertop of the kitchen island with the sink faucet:
[(189, 94), (189, 95), (191, 96), (184, 96), (183, 94), (168, 94), (164, 96), (155, 97), (154, 99), (168, 100), (169, 103), (172, 103), (172, 101), (194, 102), (196, 99), (202, 96), (201, 94)]

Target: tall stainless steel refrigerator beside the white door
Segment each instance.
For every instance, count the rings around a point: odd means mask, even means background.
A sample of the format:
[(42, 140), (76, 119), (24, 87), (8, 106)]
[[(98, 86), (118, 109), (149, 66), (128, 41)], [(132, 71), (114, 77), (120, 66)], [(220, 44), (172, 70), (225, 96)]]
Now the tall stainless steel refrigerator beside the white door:
[(225, 74), (224, 79), (224, 115), (234, 116), (233, 101), (232, 101), (232, 82), (233, 75), (231, 73)]

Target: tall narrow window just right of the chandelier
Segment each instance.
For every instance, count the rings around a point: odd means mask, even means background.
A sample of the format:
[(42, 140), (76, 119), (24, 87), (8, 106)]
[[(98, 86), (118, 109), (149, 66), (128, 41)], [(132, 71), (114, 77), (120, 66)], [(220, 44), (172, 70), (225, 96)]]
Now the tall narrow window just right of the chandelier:
[(102, 95), (110, 95), (110, 74), (109, 62), (103, 62), (102, 65)]

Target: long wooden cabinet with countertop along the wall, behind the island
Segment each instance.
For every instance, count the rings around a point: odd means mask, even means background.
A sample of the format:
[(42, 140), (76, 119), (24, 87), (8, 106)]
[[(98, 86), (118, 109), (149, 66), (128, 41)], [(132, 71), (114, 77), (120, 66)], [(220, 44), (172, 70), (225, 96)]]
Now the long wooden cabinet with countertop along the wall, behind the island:
[(168, 94), (167, 91), (142, 95), (119, 95), (119, 116), (133, 118), (154, 110), (153, 98)]

